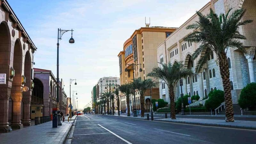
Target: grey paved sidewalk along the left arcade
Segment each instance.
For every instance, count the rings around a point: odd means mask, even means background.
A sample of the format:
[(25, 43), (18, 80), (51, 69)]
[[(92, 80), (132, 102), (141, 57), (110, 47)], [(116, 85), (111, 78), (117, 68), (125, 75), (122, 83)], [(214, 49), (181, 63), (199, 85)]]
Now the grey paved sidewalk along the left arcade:
[[(66, 120), (68, 117), (65, 117)], [(76, 119), (73, 116), (72, 119)], [(52, 121), (24, 127), (9, 133), (0, 133), (1, 143), (8, 144), (62, 144), (68, 136), (73, 121), (62, 122), (62, 126), (52, 128)], [(15, 140), (13, 140), (15, 139)]]

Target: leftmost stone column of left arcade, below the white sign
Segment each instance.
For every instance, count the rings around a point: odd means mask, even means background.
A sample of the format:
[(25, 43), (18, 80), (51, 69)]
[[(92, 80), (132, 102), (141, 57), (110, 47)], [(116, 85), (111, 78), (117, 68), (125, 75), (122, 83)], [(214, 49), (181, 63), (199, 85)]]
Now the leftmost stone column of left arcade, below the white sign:
[(11, 87), (0, 87), (0, 132), (11, 132), (8, 123), (9, 98), (11, 95)]

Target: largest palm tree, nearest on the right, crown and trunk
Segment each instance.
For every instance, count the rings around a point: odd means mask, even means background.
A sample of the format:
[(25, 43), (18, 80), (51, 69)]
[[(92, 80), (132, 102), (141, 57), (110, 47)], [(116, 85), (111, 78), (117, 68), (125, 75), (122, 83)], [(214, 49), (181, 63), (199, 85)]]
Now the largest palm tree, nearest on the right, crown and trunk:
[(242, 21), (245, 10), (237, 9), (230, 14), (231, 9), (227, 14), (218, 16), (212, 9), (207, 15), (201, 12), (196, 12), (199, 21), (188, 25), (187, 29), (194, 31), (184, 38), (187, 42), (199, 43), (200, 46), (193, 53), (192, 58), (200, 58), (196, 64), (196, 72), (200, 72), (207, 57), (214, 52), (217, 55), (220, 75), (222, 78), (223, 88), (225, 92), (225, 107), (226, 107), (226, 122), (234, 122), (233, 104), (231, 96), (231, 85), (229, 79), (228, 68), (228, 48), (235, 48), (245, 53), (244, 44), (239, 39), (246, 39), (245, 36), (239, 33), (239, 26), (251, 23), (252, 20)]

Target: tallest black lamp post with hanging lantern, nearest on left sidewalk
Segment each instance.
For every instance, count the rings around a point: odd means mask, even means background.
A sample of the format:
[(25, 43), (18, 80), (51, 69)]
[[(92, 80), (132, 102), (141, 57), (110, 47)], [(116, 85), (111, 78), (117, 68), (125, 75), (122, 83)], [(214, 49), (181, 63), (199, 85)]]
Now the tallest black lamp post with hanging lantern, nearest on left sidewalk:
[[(58, 28), (58, 43), (57, 43), (57, 108), (58, 108), (58, 116), (57, 116), (57, 124), (58, 125), (62, 125), (61, 122), (60, 122), (60, 101), (59, 101), (59, 95), (60, 95), (60, 92), (59, 92), (59, 40), (61, 40), (61, 37), (63, 36), (63, 34), (65, 32), (68, 32), (68, 31), (71, 31), (71, 38), (69, 39), (69, 43), (70, 44), (74, 44), (75, 43), (75, 40), (73, 38), (73, 29), (71, 30), (63, 30), (63, 29), (60, 29)], [(56, 127), (56, 125), (53, 124), (54, 122), (52, 121), (52, 127)]]

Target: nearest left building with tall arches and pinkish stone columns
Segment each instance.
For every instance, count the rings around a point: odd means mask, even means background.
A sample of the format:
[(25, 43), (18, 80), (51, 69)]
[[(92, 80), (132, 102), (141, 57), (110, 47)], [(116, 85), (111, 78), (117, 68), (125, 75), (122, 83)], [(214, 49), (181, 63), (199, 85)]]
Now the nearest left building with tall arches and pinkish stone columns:
[(0, 82), (0, 132), (10, 132), (11, 127), (31, 125), (32, 62), (37, 48), (6, 0), (0, 0), (0, 21), (0, 74), (4, 77)]

